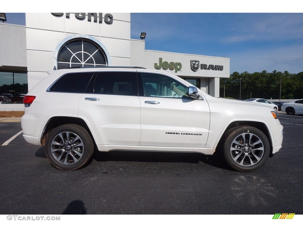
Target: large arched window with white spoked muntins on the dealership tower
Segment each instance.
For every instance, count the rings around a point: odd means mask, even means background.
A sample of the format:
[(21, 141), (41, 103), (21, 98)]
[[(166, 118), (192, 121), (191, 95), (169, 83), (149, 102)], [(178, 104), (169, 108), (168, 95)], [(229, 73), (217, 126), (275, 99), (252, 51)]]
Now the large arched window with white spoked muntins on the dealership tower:
[(58, 69), (68, 67), (107, 66), (104, 50), (95, 42), (85, 38), (71, 39), (62, 45), (57, 58)]

